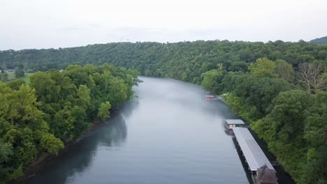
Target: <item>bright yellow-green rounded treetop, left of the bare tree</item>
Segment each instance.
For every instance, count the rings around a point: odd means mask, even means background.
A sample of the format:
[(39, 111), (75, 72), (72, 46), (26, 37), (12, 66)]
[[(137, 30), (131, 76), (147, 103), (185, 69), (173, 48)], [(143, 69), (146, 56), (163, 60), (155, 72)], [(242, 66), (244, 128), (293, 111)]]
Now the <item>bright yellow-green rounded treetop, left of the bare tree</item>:
[(251, 63), (249, 66), (250, 74), (257, 78), (277, 77), (275, 69), (275, 62), (266, 57), (256, 59), (256, 63)]

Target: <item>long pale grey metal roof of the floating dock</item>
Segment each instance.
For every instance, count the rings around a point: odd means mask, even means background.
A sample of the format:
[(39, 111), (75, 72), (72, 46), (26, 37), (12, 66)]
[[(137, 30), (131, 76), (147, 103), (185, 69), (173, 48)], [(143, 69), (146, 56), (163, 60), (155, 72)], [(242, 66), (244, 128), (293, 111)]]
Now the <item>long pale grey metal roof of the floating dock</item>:
[(267, 165), (268, 169), (275, 170), (247, 128), (236, 127), (233, 128), (233, 132), (251, 171), (256, 171), (264, 164)]

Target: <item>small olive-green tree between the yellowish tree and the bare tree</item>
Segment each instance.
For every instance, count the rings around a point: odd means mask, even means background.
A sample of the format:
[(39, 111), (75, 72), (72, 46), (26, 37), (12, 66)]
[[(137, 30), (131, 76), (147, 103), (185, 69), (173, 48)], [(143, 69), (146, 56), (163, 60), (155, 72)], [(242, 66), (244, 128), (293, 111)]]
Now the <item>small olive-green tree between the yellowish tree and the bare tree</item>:
[(281, 79), (284, 79), (287, 82), (293, 82), (294, 80), (294, 70), (291, 64), (286, 63), (286, 61), (279, 59), (275, 61), (276, 63), (276, 72)]

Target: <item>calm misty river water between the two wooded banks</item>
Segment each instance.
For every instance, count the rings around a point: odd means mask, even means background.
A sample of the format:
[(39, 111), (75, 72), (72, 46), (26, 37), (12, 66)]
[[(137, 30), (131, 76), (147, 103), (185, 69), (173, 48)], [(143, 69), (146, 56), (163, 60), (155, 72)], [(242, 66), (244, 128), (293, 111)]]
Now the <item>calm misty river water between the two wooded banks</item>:
[(24, 183), (249, 183), (224, 103), (200, 86), (142, 79), (139, 98)]

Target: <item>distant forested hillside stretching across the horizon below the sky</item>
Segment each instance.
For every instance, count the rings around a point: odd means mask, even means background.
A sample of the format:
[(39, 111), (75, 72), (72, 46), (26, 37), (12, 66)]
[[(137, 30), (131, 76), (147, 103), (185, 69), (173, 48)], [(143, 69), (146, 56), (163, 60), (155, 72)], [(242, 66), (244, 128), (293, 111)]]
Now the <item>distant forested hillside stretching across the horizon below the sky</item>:
[[(68, 64), (110, 62), (114, 66), (135, 68), (143, 75), (170, 77), (201, 83), (201, 74), (223, 63), (230, 70), (260, 57), (282, 59), (297, 67), (300, 63), (325, 60), (326, 45), (299, 41), (250, 43), (228, 40), (181, 43), (108, 43), (65, 49), (24, 49), (0, 52), (0, 67), (28, 66), (34, 71), (66, 68)], [(235, 63), (235, 61), (237, 63)], [(245, 67), (246, 68), (246, 67)]]

